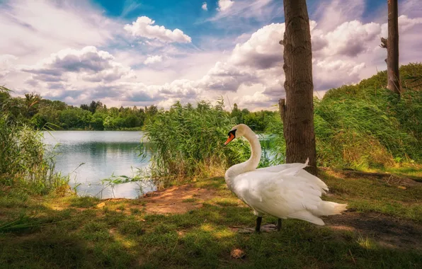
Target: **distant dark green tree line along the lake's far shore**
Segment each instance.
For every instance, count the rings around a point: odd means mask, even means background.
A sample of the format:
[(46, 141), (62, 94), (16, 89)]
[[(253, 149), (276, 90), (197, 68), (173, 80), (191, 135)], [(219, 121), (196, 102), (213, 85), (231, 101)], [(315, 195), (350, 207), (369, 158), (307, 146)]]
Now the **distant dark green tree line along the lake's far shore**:
[[(144, 125), (154, 120), (157, 113), (165, 113), (156, 105), (137, 108), (108, 108), (101, 101), (91, 101), (78, 106), (62, 101), (52, 101), (35, 93), (25, 93), (24, 97), (13, 97), (8, 91), (0, 92), (1, 103), (8, 102), (8, 118), (13, 122), (25, 123), (37, 130), (142, 130)], [(198, 103), (197, 109), (203, 109)], [(188, 103), (187, 108), (193, 108)], [(251, 113), (239, 109), (236, 104), (232, 112), (226, 112), (236, 123), (245, 123), (258, 132), (266, 130), (268, 120), (274, 112), (261, 110)]]

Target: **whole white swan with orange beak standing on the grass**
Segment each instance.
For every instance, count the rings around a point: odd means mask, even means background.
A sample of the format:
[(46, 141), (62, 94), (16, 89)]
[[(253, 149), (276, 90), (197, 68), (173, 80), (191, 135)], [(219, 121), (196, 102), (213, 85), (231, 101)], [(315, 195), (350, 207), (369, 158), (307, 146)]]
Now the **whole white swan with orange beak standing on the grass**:
[(258, 168), (261, 160), (261, 144), (258, 137), (247, 125), (236, 125), (230, 130), (224, 146), (233, 139), (245, 137), (251, 145), (249, 160), (227, 169), (224, 179), (229, 190), (253, 209), (256, 216), (256, 232), (261, 230), (264, 214), (278, 217), (277, 229), (281, 229), (281, 219), (302, 219), (317, 225), (324, 225), (319, 216), (341, 214), (347, 204), (321, 200), (321, 195), (329, 190), (327, 185), (308, 173), (305, 164), (280, 164), (268, 168)]

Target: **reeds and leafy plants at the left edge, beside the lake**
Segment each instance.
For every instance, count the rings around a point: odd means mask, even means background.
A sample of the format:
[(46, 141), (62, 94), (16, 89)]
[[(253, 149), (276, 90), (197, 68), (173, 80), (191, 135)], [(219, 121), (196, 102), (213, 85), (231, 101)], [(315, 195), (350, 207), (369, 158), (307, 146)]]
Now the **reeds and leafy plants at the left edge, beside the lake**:
[[(5, 88), (0, 88), (7, 96)], [(10, 97), (10, 96), (8, 96)], [(35, 101), (32, 100), (32, 105)], [(67, 185), (68, 178), (55, 173), (52, 156), (45, 156), (42, 133), (33, 130), (25, 122), (12, 121), (8, 99), (0, 103), (0, 185), (19, 186), (33, 193), (48, 193)], [(30, 106), (24, 113), (34, 111)]]

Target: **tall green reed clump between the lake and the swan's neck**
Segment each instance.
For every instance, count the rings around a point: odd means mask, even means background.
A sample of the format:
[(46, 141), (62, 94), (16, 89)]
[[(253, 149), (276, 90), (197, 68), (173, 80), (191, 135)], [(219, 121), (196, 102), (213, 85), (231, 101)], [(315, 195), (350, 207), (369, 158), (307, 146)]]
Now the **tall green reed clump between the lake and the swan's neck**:
[(236, 122), (217, 105), (201, 101), (197, 108), (177, 102), (169, 111), (160, 110), (145, 127), (145, 135), (154, 144), (151, 160), (153, 176), (213, 176), (224, 168), (249, 157), (249, 145), (242, 140), (224, 147), (227, 132)]

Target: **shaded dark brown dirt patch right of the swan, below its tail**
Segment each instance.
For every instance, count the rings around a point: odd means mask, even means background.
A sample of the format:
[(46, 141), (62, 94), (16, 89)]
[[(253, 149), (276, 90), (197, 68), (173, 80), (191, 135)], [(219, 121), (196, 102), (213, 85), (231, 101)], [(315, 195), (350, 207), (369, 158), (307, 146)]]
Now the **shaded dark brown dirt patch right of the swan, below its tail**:
[(353, 231), (382, 246), (422, 250), (422, 225), (380, 213), (346, 212), (322, 217), (328, 227)]

